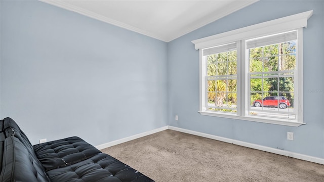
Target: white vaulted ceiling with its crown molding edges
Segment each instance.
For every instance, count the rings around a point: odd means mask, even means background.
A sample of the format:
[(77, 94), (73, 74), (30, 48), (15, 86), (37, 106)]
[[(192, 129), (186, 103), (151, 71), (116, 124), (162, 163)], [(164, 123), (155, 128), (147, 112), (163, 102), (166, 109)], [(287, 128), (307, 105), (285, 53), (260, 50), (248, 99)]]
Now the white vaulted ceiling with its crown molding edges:
[(169, 42), (259, 0), (39, 0)]

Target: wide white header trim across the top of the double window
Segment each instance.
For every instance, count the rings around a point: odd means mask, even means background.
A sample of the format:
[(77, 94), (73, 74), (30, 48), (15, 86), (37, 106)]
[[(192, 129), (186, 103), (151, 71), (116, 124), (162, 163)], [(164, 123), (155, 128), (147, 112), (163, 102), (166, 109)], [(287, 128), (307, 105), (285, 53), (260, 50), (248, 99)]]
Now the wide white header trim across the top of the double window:
[(313, 10), (231, 30), (205, 38), (192, 40), (191, 42), (194, 43), (195, 49), (198, 50), (241, 39), (249, 39), (258, 36), (280, 33), (282, 31), (295, 30), (298, 28), (307, 27), (307, 20), (312, 15)]

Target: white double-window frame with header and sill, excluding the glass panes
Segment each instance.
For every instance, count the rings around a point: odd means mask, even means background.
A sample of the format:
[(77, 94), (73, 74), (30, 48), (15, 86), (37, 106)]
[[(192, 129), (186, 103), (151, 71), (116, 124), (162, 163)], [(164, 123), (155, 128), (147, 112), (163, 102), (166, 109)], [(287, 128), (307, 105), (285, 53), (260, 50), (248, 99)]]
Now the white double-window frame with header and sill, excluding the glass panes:
[[(307, 27), (307, 20), (312, 16), (313, 11), (307, 11), (295, 15), (291, 15), (284, 18), (279, 18), (248, 27), (212, 35), (205, 38), (193, 40), (195, 49), (199, 50), (199, 113), (201, 115), (217, 116), (231, 119), (240, 119), (248, 121), (256, 121), (263, 123), (288, 125), (288, 126), (300, 126), (305, 124), (303, 122), (303, 27)], [(296, 78), (297, 82), (295, 88), (297, 88), (297, 97), (295, 103), (295, 109), (297, 109), (297, 119), (282, 119), (282, 118), (270, 118), (264, 116), (251, 116), (248, 115), (248, 56), (246, 53), (246, 40), (267, 36), (276, 33), (282, 33), (292, 30), (298, 30), (297, 36), (297, 48), (296, 55)], [(237, 45), (237, 112), (225, 113), (208, 111), (206, 108), (206, 74), (207, 68), (204, 65), (203, 49), (216, 47), (231, 42), (236, 42)]]

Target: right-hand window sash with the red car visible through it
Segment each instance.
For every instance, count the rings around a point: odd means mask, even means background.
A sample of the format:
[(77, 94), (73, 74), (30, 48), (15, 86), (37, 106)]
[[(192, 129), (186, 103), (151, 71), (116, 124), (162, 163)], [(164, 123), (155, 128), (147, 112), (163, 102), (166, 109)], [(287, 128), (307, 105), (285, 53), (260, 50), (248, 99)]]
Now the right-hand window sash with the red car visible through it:
[[(253, 116), (296, 119), (294, 80), (296, 79), (297, 31), (267, 36), (265, 39), (268, 40), (257, 38), (256, 44), (266, 45), (253, 48), (250, 43), (250, 49), (247, 49), (250, 88), (248, 113)], [(267, 43), (273, 44), (267, 45)], [(267, 96), (284, 96), (287, 100), (267, 100)]]

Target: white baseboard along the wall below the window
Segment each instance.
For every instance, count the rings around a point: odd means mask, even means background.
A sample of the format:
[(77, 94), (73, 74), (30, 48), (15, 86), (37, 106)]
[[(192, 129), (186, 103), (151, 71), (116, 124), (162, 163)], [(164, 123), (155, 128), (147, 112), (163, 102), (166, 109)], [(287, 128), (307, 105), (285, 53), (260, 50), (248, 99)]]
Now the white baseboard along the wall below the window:
[(257, 150), (261, 150), (261, 151), (265, 151), (265, 152), (270, 152), (270, 153), (274, 153), (274, 154), (279, 154), (279, 155), (283, 155), (283, 156), (288, 156), (288, 157), (292, 157), (292, 158), (301, 159), (301, 160), (305, 160), (305, 161), (314, 162), (314, 163), (324, 165), (324, 159), (318, 158), (318, 157), (312, 157), (312, 156), (299, 154), (299, 153), (295, 153), (295, 152), (284, 151), (284, 150), (275, 149), (275, 148), (266, 147), (266, 146), (261, 146), (261, 145), (256, 145), (256, 144), (252, 144), (252, 143), (248, 143), (248, 142), (242, 142), (242, 141), (238, 141), (238, 140), (228, 139), (228, 138), (224, 138), (224, 137), (221, 137), (221, 136), (216, 136), (216, 135), (212, 135), (212, 134), (192, 131), (192, 130), (178, 128), (178, 127), (174, 127), (174, 126), (169, 126), (169, 129), (184, 132), (184, 133), (188, 133), (188, 134), (193, 134), (193, 135), (197, 135), (197, 136), (203, 136), (203, 137), (208, 138), (208, 139), (214, 139), (214, 140), (221, 141), (221, 142), (226, 142), (226, 143), (230, 143), (230, 144), (244, 146), (244, 147), (248, 147), (248, 148), (252, 148), (252, 149), (257, 149)]

